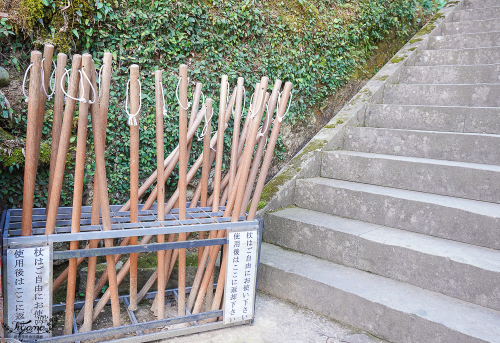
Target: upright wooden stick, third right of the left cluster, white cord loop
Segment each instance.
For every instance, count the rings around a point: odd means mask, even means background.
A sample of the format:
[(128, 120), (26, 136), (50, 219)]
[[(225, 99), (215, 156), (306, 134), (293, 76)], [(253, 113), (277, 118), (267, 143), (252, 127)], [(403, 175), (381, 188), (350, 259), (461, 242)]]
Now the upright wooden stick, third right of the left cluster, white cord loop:
[[(179, 220), (186, 218), (186, 191), (187, 191), (187, 65), (181, 64), (179, 68)], [(179, 233), (177, 240), (186, 239), (185, 232)], [(185, 314), (185, 283), (186, 283), (186, 249), (179, 250), (179, 278), (178, 278), (178, 315)]]

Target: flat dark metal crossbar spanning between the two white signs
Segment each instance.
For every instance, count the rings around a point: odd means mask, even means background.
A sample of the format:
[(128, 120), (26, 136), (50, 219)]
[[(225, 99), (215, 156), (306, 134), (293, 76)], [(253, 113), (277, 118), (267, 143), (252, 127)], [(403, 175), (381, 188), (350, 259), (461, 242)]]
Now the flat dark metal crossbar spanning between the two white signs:
[(119, 253), (152, 252), (158, 250), (183, 249), (189, 247), (225, 244), (226, 241), (227, 241), (226, 238), (210, 238), (210, 239), (183, 240), (183, 241), (174, 241), (165, 243), (148, 243), (148, 244), (137, 244), (137, 245), (125, 245), (125, 246), (97, 247), (91, 249), (54, 251), (53, 259), (106, 256), (106, 255), (116, 255)]

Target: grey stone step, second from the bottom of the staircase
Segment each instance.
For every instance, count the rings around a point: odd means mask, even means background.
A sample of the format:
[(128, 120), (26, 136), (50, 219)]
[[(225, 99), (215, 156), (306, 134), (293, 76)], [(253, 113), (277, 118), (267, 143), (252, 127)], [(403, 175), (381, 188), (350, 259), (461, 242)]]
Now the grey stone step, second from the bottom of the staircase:
[(264, 216), (264, 239), (299, 252), (500, 309), (500, 251), (305, 208)]

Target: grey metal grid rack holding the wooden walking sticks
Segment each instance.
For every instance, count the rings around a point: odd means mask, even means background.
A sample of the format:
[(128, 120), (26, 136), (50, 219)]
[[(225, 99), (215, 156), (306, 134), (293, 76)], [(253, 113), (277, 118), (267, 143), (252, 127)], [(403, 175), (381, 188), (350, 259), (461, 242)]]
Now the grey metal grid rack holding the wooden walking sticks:
[[(200, 207), (199, 203), (193, 208), (187, 208), (186, 219), (178, 219), (178, 210), (173, 208), (168, 214), (165, 214), (164, 221), (158, 221), (156, 217), (156, 207), (153, 205), (148, 210), (141, 210), (142, 205), (139, 205), (139, 221), (130, 223), (130, 212), (119, 211), (121, 205), (111, 205), (111, 223), (112, 229), (104, 231), (101, 225), (90, 225), (91, 207), (83, 206), (81, 208), (81, 225), (80, 232), (71, 233), (71, 212), (72, 207), (59, 207), (57, 211), (56, 228), (53, 234), (45, 235), (45, 214), (44, 208), (33, 209), (32, 215), (32, 229), (30, 236), (20, 236), (20, 225), (22, 209), (6, 209), (0, 217), (0, 228), (2, 228), (2, 278), (9, 272), (6, 270), (6, 249), (13, 247), (26, 247), (36, 244), (53, 244), (54, 242), (75, 241), (75, 240), (89, 240), (89, 239), (103, 239), (103, 238), (117, 238), (117, 237), (131, 237), (131, 236), (144, 236), (144, 235), (157, 235), (179, 232), (193, 232), (193, 231), (211, 231), (211, 230), (257, 230), (258, 233), (258, 250), (257, 256), (260, 254), (260, 242), (262, 232), (262, 220), (246, 220), (246, 216), (240, 216), (238, 221), (230, 221), (230, 217), (222, 217), (225, 206), (220, 206), (219, 211), (212, 212), (211, 207)], [(187, 203), (189, 207), (189, 202)], [(165, 243), (147, 243), (126, 246), (112, 246), (112, 247), (98, 247), (76, 250), (62, 250), (53, 251), (52, 260), (66, 259), (77, 257), (89, 256), (104, 256), (111, 254), (123, 254), (130, 252), (152, 252), (158, 250), (176, 249), (176, 248), (189, 248), (210, 245), (223, 245), (226, 244), (227, 238), (210, 238), (210, 239), (196, 239), (185, 241), (173, 241)], [(257, 261), (258, 266), (258, 261)], [(256, 282), (255, 282), (256, 283)], [(214, 287), (216, 284), (214, 284)], [(4, 286), (3, 289), (6, 289)], [(186, 293), (189, 293), (190, 287), (186, 287)], [(165, 296), (173, 296), (177, 301), (178, 288), (165, 290)], [(144, 298), (152, 298), (156, 295), (156, 291), (146, 293)], [(7, 298), (8, 294), (4, 296)], [(134, 332), (135, 336), (123, 337), (117, 339), (110, 339), (110, 342), (145, 342), (150, 340), (162, 339), (173, 337), (177, 335), (185, 335), (189, 333), (196, 333), (206, 330), (217, 329), (221, 327), (228, 327), (238, 324), (251, 323), (252, 320), (245, 320), (241, 322), (223, 324), (221, 321), (215, 321), (206, 324), (198, 324), (198, 320), (219, 317), (223, 315), (223, 310), (205, 311), (201, 313), (192, 314), (186, 308), (186, 315), (158, 319), (146, 322), (137, 322), (133, 313), (128, 309), (128, 295), (121, 295), (119, 297), (126, 308), (128, 317), (131, 323), (102, 329), (95, 329), (88, 332), (78, 332), (75, 317), (73, 314), (73, 334), (60, 335), (49, 338), (36, 340), (37, 342), (51, 342), (51, 343), (68, 343), (79, 341), (83, 339), (108, 337), (119, 335), (123, 333)], [(95, 299), (97, 303), (99, 299)], [(85, 301), (75, 301), (74, 308), (82, 308)], [(108, 301), (109, 304), (109, 301)], [(6, 308), (7, 306), (4, 306)], [(65, 303), (52, 304), (52, 311), (64, 310)], [(6, 312), (6, 311), (5, 311)], [(4, 318), (7, 318), (7, 313), (4, 313)], [(143, 333), (142, 330), (165, 325), (172, 325), (184, 322), (191, 322), (191, 326), (169, 329), (167, 331), (158, 331), (152, 333)]]

